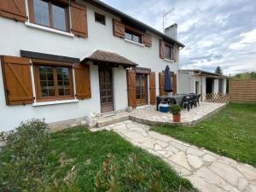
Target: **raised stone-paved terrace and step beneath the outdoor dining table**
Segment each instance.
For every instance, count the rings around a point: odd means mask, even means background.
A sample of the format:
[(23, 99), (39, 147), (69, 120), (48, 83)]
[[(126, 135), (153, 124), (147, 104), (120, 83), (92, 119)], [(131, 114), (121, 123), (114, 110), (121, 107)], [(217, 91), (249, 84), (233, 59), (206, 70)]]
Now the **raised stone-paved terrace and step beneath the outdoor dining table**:
[[(192, 108), (189, 111), (187, 109), (182, 110), (180, 124), (194, 125), (200, 122), (201, 119), (205, 119), (213, 113), (217, 113), (219, 110), (224, 108), (225, 105), (225, 103), (200, 102), (200, 106), (197, 108)], [(137, 108), (132, 110), (131, 113), (120, 111), (117, 112), (114, 116), (107, 118), (100, 116), (96, 118), (96, 121), (97, 127), (103, 127), (128, 119), (150, 126), (175, 124), (172, 121), (172, 113), (160, 113), (159, 111), (156, 111), (155, 106)]]

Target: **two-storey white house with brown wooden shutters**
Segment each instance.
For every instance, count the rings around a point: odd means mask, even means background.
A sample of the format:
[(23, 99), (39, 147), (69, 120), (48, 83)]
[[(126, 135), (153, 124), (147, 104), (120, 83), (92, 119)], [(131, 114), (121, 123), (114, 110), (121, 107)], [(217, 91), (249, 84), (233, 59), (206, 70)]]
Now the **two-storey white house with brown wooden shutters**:
[(162, 33), (98, 0), (9, 0), (0, 26), (0, 131), (154, 104), (166, 65), (178, 90), (176, 24)]

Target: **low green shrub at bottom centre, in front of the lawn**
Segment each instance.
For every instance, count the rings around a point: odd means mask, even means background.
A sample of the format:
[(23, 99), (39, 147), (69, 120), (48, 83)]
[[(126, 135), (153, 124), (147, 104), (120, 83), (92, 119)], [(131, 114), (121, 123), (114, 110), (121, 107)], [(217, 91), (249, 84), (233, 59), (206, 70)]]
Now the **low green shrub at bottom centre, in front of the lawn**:
[[(120, 167), (125, 167), (122, 171)], [(116, 163), (115, 157), (108, 154), (103, 168), (96, 175), (96, 191), (168, 191), (164, 189), (160, 171), (153, 172), (150, 166), (139, 163), (137, 155), (132, 154), (122, 165)]]

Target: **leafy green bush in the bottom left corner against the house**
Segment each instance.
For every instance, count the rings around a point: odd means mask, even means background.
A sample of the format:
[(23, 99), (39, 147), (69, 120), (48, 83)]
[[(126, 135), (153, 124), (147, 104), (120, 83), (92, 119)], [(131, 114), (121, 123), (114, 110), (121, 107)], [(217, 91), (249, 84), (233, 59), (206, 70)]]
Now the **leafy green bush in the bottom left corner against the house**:
[[(70, 191), (73, 184), (46, 177), (49, 168), (49, 128), (44, 120), (21, 122), (14, 131), (0, 134), (7, 154), (0, 164), (0, 191)], [(78, 191), (78, 190), (73, 190)]]

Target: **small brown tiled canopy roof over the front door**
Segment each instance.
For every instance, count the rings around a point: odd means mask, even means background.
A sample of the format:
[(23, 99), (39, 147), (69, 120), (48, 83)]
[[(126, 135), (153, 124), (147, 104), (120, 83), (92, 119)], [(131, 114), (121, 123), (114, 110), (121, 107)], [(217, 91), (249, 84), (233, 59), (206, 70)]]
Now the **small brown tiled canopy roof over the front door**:
[(90, 56), (85, 57), (83, 61), (113, 63), (117, 65), (124, 65), (127, 67), (135, 67), (138, 65), (137, 63), (130, 61), (121, 55), (100, 49), (97, 49)]

